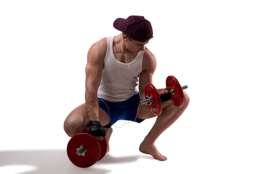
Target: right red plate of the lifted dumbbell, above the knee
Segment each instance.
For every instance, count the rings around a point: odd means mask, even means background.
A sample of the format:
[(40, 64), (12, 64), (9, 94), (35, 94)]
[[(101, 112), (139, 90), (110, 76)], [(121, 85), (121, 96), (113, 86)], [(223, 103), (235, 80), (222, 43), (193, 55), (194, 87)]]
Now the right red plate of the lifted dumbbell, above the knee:
[(166, 79), (166, 87), (174, 91), (172, 102), (177, 107), (182, 107), (184, 104), (183, 90), (174, 76), (168, 76)]

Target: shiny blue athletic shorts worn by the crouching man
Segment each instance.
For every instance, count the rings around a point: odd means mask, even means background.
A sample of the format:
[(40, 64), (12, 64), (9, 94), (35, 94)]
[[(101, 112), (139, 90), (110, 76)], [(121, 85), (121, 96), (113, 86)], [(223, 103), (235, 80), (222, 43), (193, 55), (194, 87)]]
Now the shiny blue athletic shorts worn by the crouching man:
[(110, 127), (118, 120), (128, 120), (137, 123), (142, 122), (141, 119), (136, 119), (138, 107), (140, 104), (140, 94), (137, 92), (135, 95), (126, 101), (111, 102), (102, 98), (98, 98), (99, 107), (102, 108), (110, 118), (110, 124), (104, 127)]

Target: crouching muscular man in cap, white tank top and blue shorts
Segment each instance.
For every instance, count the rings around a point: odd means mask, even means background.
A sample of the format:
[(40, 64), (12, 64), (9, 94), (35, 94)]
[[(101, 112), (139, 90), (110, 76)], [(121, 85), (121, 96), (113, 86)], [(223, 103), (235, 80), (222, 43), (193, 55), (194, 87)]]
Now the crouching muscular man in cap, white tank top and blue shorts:
[[(89, 129), (89, 124), (106, 134), (98, 133), (96, 138), (107, 142), (112, 133), (111, 125), (117, 120), (142, 122), (155, 117), (147, 105), (140, 105), (145, 99), (144, 86), (152, 83), (156, 69), (156, 58), (146, 47), (153, 37), (150, 21), (144, 16), (117, 18), (114, 28), (121, 31), (117, 36), (102, 38), (94, 43), (87, 54), (86, 103), (75, 108), (66, 118), (64, 129), (68, 136)], [(159, 94), (169, 92), (158, 89)], [(184, 105), (176, 107), (169, 100), (163, 103), (163, 111), (140, 144), (142, 153), (150, 154), (160, 161), (167, 160), (155, 146), (156, 139), (183, 113), (189, 103), (184, 93)], [(108, 146), (109, 147), (109, 146)], [(109, 151), (109, 148), (108, 150)]]

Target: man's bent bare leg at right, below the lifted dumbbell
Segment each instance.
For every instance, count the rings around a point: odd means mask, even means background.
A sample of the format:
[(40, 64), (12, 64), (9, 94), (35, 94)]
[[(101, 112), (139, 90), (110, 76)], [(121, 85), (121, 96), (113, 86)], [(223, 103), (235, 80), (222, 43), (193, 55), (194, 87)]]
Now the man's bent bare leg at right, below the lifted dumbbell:
[[(189, 96), (184, 92), (184, 105), (182, 107), (176, 107), (171, 101), (163, 104), (163, 112), (159, 115), (154, 123), (152, 129), (145, 137), (140, 145), (140, 151), (145, 154), (152, 155), (155, 159), (160, 161), (167, 160), (167, 157), (162, 155), (155, 146), (157, 138), (169, 128), (178, 117), (184, 112), (189, 103)], [(147, 106), (145, 106), (147, 107)], [(148, 113), (148, 107), (141, 107), (138, 112), (138, 119), (147, 119), (153, 117), (152, 114)], [(149, 109), (150, 110), (150, 109)]]

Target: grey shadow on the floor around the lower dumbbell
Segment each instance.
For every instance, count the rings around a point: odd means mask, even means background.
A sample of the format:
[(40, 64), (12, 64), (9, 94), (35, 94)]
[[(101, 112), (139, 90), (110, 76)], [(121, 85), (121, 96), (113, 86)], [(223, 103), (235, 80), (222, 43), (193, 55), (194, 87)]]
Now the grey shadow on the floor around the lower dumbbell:
[(0, 168), (6, 170), (12, 166), (29, 166), (31, 170), (17, 171), (17, 174), (109, 174), (112, 171), (106, 165), (133, 163), (138, 159), (152, 159), (145, 155), (113, 157), (106, 154), (103, 159), (89, 168), (73, 165), (66, 150), (13, 150), (0, 151)]

